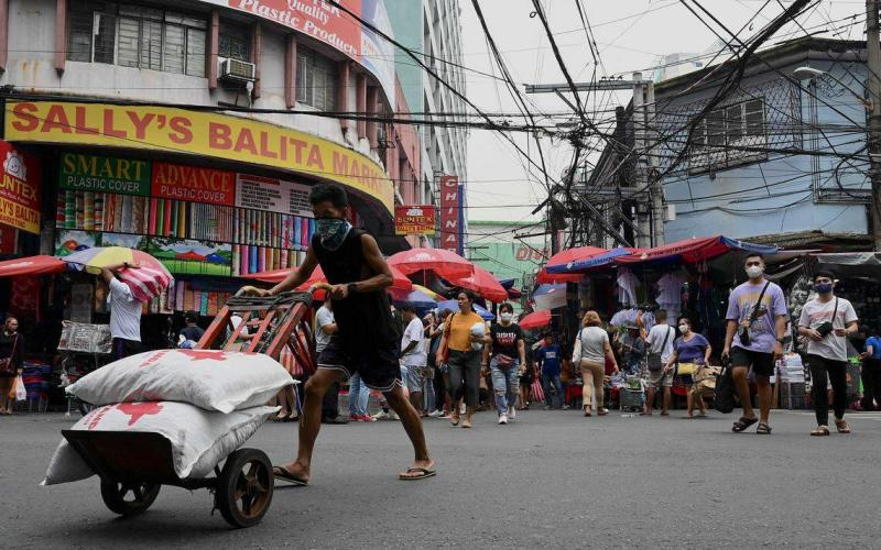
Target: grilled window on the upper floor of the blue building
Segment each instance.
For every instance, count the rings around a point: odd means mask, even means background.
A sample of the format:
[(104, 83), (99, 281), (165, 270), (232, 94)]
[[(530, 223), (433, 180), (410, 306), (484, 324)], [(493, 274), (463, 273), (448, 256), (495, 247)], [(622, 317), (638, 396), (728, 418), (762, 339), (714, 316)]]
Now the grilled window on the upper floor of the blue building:
[(710, 111), (692, 133), (688, 168), (709, 172), (768, 158), (764, 100)]

